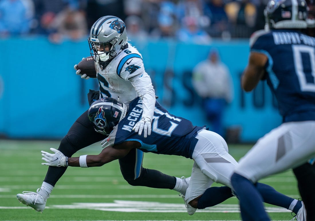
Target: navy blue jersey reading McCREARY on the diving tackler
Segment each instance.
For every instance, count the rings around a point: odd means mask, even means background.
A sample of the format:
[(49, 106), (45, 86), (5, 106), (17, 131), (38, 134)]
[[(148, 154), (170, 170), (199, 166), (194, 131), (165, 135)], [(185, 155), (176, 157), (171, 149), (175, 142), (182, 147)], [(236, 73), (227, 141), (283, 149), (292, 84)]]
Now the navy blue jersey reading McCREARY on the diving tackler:
[(205, 127), (193, 126), (189, 120), (170, 114), (157, 101), (152, 120), (151, 135), (144, 138), (132, 128), (142, 115), (142, 100), (134, 99), (129, 104), (127, 115), (118, 123), (108, 136), (111, 146), (124, 141), (138, 141), (143, 152), (185, 156), (192, 159), (192, 152), (198, 141), (197, 132)]

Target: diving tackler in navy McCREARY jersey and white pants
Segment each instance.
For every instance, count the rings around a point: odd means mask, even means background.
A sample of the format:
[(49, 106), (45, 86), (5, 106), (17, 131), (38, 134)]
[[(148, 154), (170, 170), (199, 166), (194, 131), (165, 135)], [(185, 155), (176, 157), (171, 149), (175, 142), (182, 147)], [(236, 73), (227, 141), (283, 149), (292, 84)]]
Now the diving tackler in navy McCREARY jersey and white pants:
[[(185, 199), (189, 215), (196, 209), (215, 206), (233, 196), (230, 176), (237, 166), (228, 153), (225, 140), (205, 127), (193, 126), (189, 120), (174, 116), (157, 101), (152, 121), (152, 132), (147, 138), (139, 136), (132, 128), (143, 113), (142, 99), (137, 98), (126, 106), (113, 98), (102, 98), (89, 108), (88, 116), (95, 130), (108, 136), (101, 142), (105, 149), (99, 155), (66, 157), (59, 150), (51, 148), (54, 154), (42, 151), (42, 163), (57, 167), (98, 167), (128, 155), (137, 150), (156, 154), (178, 155), (195, 161), (186, 190)], [(210, 187), (213, 182), (223, 184)], [(257, 184), (264, 201), (301, 213), (301, 201), (285, 196), (271, 186)]]

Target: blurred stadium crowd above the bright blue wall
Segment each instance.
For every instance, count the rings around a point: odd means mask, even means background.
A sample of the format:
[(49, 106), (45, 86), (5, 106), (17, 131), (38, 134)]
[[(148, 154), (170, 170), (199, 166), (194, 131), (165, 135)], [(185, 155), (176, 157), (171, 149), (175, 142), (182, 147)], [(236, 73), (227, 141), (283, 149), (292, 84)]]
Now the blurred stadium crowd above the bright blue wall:
[(0, 37), (43, 35), (54, 43), (87, 37), (100, 17), (126, 23), (129, 39), (209, 43), (264, 28), (266, 0), (0, 0)]

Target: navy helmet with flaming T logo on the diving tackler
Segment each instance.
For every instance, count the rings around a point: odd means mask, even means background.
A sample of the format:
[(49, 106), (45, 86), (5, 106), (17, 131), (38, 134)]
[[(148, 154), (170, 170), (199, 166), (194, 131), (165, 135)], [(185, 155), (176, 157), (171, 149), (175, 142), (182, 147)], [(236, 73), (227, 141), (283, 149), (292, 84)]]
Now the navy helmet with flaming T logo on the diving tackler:
[(89, 110), (89, 120), (96, 132), (108, 135), (126, 116), (127, 106), (114, 98), (101, 98), (94, 101)]

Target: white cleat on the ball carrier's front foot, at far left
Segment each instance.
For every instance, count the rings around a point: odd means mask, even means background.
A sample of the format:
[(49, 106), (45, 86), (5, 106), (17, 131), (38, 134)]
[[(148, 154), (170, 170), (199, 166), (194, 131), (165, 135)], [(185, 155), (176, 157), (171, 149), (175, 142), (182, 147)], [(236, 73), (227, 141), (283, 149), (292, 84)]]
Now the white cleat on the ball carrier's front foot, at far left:
[[(39, 188), (40, 189), (40, 188)], [(38, 194), (39, 189), (35, 192), (23, 191), (16, 195), (16, 199), (26, 206), (32, 207), (37, 212), (43, 213), (46, 206), (46, 199)]]

